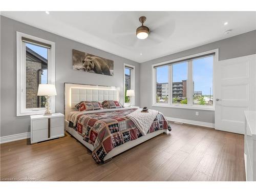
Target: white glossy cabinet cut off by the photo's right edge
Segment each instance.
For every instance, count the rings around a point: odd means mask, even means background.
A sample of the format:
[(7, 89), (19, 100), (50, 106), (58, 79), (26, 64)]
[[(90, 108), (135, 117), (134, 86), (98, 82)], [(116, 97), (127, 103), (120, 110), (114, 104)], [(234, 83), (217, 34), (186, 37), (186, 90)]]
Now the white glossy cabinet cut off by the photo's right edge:
[(246, 180), (256, 181), (256, 112), (245, 111), (244, 153)]

